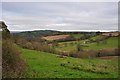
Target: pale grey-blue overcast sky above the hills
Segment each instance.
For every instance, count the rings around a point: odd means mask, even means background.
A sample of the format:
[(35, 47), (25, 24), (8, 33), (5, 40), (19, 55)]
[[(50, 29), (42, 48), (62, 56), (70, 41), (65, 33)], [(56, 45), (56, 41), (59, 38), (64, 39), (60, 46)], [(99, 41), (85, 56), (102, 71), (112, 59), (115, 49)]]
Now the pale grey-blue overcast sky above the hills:
[(11, 31), (118, 30), (117, 2), (3, 2), (1, 11)]

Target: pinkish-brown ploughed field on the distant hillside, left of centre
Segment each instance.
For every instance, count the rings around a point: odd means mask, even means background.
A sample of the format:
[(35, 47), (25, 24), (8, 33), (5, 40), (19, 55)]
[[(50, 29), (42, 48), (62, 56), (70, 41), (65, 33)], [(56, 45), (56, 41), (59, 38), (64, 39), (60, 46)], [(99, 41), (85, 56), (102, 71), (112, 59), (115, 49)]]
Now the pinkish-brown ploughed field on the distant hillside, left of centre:
[(46, 36), (42, 37), (45, 40), (52, 41), (52, 40), (59, 40), (59, 39), (65, 39), (69, 37), (70, 35), (55, 35), (55, 36)]

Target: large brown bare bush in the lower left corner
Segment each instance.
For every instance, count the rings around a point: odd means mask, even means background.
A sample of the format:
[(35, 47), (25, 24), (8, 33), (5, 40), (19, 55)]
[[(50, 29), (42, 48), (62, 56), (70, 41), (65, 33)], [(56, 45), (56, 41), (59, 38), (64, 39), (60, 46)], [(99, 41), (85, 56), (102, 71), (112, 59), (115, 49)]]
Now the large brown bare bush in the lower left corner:
[(2, 45), (3, 78), (19, 77), (25, 70), (25, 63), (20, 58), (20, 52), (11, 40), (3, 40)]

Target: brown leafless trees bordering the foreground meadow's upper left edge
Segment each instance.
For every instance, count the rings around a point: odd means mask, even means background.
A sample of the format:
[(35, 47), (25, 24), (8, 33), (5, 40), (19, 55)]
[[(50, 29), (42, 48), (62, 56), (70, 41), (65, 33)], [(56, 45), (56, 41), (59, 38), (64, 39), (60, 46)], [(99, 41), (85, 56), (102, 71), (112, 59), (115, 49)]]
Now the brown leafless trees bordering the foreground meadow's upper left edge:
[(29, 41), (24, 38), (19, 38), (16, 39), (16, 44), (23, 48), (31, 49), (31, 50), (37, 50), (37, 51), (44, 51), (44, 52), (49, 52), (49, 53), (55, 53), (56, 51), (54, 50), (54, 47), (49, 46), (45, 42), (39, 42), (36, 40)]

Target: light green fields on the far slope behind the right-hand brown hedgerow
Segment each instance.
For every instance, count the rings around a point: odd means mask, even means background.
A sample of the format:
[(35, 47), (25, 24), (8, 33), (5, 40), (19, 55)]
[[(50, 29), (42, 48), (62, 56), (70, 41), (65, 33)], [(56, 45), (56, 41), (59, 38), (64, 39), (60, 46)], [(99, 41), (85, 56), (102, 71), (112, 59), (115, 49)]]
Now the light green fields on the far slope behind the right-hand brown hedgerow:
[[(91, 39), (98, 39), (102, 38), (103, 36), (96, 36), (92, 37)], [(105, 48), (117, 48), (118, 47), (118, 37), (110, 37), (104, 41), (100, 41), (99, 43), (93, 42), (88, 44), (83, 44), (86, 40), (80, 40), (80, 41), (69, 41), (69, 42), (60, 42), (59, 46), (56, 47), (59, 51), (75, 51), (76, 45), (78, 43), (81, 43), (83, 45), (84, 50), (99, 50), (99, 49), (105, 49)]]

